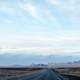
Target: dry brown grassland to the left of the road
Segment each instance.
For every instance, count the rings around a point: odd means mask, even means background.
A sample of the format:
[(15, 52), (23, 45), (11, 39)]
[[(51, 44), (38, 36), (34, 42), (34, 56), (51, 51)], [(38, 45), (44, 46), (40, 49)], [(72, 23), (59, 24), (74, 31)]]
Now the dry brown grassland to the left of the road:
[(32, 74), (36, 71), (39, 71), (41, 69), (35, 69), (35, 68), (21, 68), (21, 69), (9, 69), (9, 68), (4, 68), (0, 69), (0, 77), (16, 77), (16, 76), (21, 76), (21, 75), (28, 75)]

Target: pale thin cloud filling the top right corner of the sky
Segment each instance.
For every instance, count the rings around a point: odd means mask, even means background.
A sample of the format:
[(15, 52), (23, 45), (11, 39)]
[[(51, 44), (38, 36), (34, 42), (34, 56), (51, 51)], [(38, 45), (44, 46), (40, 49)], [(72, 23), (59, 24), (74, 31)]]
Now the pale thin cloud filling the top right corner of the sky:
[(80, 20), (80, 0), (47, 0), (54, 5), (59, 11), (62, 11), (65, 16), (71, 19)]

